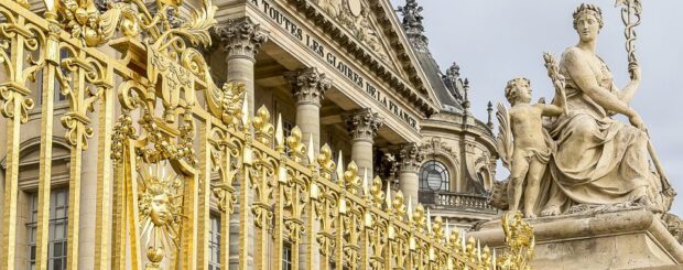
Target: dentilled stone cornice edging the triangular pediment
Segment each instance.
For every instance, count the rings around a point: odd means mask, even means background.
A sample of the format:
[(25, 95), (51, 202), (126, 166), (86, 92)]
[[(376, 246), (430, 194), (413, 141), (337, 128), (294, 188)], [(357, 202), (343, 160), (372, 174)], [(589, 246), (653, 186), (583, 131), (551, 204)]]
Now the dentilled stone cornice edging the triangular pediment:
[[(346, 30), (339, 28), (333, 20), (330, 20), (322, 10), (319, 10), (310, 0), (288, 0), (297, 11), (305, 15), (306, 19), (313, 21), (319, 29), (327, 33), (332, 40), (338, 42), (339, 45), (346, 47), (347, 53), (359, 60), (362, 65), (372, 71), (377, 77), (388, 83), (392, 90), (395, 90), (403, 98), (406, 98), (412, 105), (416, 106), (419, 111), (425, 114), (426, 117), (436, 114), (438, 108), (435, 106), (435, 101), (429, 97), (426, 89), (427, 83), (420, 76), (420, 72), (411, 62), (410, 51), (400, 41), (400, 33), (395, 29), (382, 29), (383, 33), (390, 39), (389, 44), (394, 50), (401, 66), (410, 76), (410, 83), (416, 87), (415, 93), (408, 82), (394, 74), (384, 63), (377, 60), (372, 53), (365, 48), (356, 39), (347, 34)], [(370, 9), (376, 15), (379, 25), (391, 25), (391, 19), (388, 18), (380, 1), (369, 1)]]

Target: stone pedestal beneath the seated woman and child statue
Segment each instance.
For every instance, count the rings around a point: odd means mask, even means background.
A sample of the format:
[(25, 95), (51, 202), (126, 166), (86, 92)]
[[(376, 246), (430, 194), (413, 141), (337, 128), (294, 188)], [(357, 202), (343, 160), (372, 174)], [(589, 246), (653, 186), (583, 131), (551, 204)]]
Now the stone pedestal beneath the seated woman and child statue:
[[(527, 219), (534, 229), (533, 269), (633, 269), (683, 263), (683, 246), (644, 209)], [(499, 249), (500, 219), (469, 234)], [(469, 237), (469, 236), (467, 236)]]

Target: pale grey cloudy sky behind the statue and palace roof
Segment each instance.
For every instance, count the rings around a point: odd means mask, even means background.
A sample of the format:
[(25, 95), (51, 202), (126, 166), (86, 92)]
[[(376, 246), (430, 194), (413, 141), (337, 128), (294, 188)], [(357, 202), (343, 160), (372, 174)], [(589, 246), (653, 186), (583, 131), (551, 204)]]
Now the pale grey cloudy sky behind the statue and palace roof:
[[(404, 0), (391, 0), (403, 6)], [(586, 1), (586, 0), (584, 0)], [(485, 119), (488, 100), (505, 101), (508, 79), (531, 79), (534, 100), (554, 95), (542, 53), (562, 52), (577, 42), (572, 12), (584, 1), (562, 0), (419, 0), (430, 48), (444, 71), (451, 63), (469, 78), (475, 115)], [(615, 75), (628, 83), (624, 23), (614, 0), (594, 0), (603, 9), (605, 26), (597, 53)], [(642, 83), (631, 106), (646, 121), (664, 170), (679, 192), (672, 213), (683, 215), (683, 1), (643, 1), (637, 28), (637, 55)], [(625, 120), (621, 118), (621, 120)], [(505, 169), (499, 170), (499, 172)], [(502, 177), (503, 175), (499, 176)]]

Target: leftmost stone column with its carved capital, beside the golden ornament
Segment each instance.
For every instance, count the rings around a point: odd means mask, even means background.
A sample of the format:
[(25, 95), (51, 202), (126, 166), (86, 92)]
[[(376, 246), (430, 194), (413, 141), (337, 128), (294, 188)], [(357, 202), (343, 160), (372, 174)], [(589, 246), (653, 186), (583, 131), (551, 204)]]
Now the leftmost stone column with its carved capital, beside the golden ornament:
[(269, 32), (256, 24), (250, 18), (245, 17), (230, 20), (226, 25), (217, 26), (216, 33), (220, 36), (223, 45), (228, 54), (226, 64), (228, 67), (227, 82), (241, 82), (246, 86), (247, 102), (253, 116), (253, 64), (254, 55), (265, 41)]

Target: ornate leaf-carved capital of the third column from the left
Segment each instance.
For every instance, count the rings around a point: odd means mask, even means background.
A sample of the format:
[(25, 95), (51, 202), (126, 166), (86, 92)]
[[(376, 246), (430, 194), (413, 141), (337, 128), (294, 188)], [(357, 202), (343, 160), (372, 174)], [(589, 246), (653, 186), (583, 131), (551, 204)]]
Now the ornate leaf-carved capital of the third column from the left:
[(377, 130), (382, 127), (384, 119), (372, 112), (370, 108), (364, 108), (343, 115), (344, 122), (351, 133), (353, 140), (367, 140), (372, 142)]

